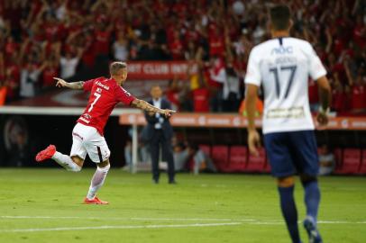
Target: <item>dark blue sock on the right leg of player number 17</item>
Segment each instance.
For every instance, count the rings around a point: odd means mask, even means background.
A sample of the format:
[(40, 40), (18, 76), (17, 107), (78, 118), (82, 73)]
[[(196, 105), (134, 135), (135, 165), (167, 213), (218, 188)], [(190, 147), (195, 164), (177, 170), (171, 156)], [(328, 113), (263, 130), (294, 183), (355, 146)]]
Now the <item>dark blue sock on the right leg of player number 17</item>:
[(305, 190), (305, 204), (307, 205), (307, 216), (314, 220), (317, 218), (317, 210), (320, 202), (320, 190), (317, 181), (303, 183)]

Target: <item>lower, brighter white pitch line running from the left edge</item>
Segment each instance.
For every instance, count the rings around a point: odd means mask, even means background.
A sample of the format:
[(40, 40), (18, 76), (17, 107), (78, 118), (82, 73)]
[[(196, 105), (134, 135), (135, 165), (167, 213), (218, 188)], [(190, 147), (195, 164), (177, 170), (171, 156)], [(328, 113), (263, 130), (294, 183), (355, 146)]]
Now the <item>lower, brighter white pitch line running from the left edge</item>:
[(189, 227), (215, 227), (240, 225), (240, 222), (227, 223), (193, 223), (193, 224), (166, 224), (166, 225), (103, 225), (91, 227), (59, 227), (59, 228), (35, 228), (35, 229), (2, 229), (0, 232), (39, 232), (39, 231), (69, 231), (87, 229), (163, 229), (163, 228), (189, 228)]

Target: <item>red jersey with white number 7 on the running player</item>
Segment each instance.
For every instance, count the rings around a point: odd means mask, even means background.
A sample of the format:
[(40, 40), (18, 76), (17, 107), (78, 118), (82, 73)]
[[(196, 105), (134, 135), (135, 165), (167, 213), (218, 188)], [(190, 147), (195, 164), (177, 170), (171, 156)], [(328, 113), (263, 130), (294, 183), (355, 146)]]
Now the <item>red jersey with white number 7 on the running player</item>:
[(88, 80), (83, 85), (84, 91), (90, 92), (87, 108), (78, 118), (78, 122), (94, 127), (103, 136), (105, 123), (117, 103), (130, 105), (133, 95), (118, 85), (113, 78), (98, 77)]

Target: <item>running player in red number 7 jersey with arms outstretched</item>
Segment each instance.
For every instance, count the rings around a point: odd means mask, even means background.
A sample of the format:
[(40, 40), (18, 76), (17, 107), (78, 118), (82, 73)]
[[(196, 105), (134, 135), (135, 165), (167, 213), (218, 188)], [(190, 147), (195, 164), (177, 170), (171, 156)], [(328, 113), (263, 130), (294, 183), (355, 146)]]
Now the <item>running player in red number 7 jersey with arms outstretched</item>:
[(58, 77), (57, 86), (71, 89), (83, 89), (90, 92), (87, 108), (79, 117), (72, 131), (72, 148), (70, 155), (61, 154), (54, 145), (39, 152), (36, 161), (52, 158), (60, 166), (73, 172), (81, 170), (87, 155), (96, 163), (96, 173), (91, 180), (89, 191), (84, 202), (87, 204), (107, 204), (96, 197), (96, 192), (104, 184), (105, 176), (110, 168), (110, 150), (105, 142), (103, 130), (109, 115), (117, 103), (124, 103), (145, 112), (160, 113), (169, 117), (172, 110), (162, 110), (150, 103), (136, 99), (124, 90), (122, 85), (127, 78), (127, 65), (124, 62), (113, 62), (110, 67), (110, 78), (98, 77), (86, 82), (68, 83)]

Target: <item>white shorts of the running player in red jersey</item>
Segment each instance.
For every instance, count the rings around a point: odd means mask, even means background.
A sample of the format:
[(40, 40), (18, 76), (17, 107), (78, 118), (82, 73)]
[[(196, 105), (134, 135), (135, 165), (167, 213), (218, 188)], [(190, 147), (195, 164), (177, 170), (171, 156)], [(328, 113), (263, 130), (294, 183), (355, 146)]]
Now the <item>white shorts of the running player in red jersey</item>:
[(96, 128), (77, 123), (72, 130), (72, 148), (70, 156), (85, 159), (87, 155), (95, 163), (101, 163), (109, 158), (111, 151)]

